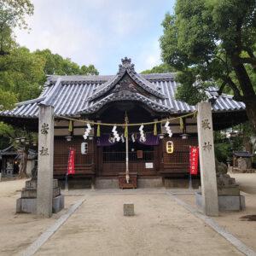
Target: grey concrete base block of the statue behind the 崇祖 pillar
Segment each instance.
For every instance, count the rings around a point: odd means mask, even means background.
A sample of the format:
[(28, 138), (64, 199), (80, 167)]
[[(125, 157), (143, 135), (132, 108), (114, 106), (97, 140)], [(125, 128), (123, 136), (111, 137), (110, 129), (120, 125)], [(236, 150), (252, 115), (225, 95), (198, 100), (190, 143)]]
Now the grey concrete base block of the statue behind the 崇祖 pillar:
[[(60, 212), (64, 208), (64, 195), (56, 196), (52, 199), (52, 212)], [(36, 198), (19, 198), (16, 201), (17, 213), (37, 213)]]

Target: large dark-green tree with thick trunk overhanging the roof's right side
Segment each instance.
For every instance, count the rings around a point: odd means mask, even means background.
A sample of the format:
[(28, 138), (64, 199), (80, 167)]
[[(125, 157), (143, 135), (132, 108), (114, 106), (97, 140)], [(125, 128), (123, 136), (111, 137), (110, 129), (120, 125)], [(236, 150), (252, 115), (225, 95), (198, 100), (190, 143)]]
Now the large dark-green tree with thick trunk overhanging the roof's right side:
[(177, 0), (160, 38), (163, 61), (177, 68), (177, 99), (195, 104), (205, 90), (232, 90), (256, 131), (255, 0)]

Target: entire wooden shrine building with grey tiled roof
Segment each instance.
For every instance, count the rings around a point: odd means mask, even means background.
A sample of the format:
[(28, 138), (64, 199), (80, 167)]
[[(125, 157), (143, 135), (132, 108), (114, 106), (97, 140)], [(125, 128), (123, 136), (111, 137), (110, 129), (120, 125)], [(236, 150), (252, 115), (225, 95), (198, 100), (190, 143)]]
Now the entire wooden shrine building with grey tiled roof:
[[(121, 62), (116, 75), (51, 75), (37, 99), (0, 113), (1, 120), (38, 131), (38, 104), (53, 106), (54, 177), (65, 179), (69, 149), (74, 148), (75, 173), (68, 177), (74, 187), (91, 182), (96, 188), (119, 187), (126, 168), (125, 132), (129, 172), (136, 177), (138, 188), (185, 184), (189, 181), (189, 147), (198, 145), (196, 106), (175, 99), (175, 73), (138, 74), (131, 59), (125, 57)], [(232, 96), (218, 96), (214, 88), (207, 96), (212, 102), (213, 130), (247, 119), (244, 103)], [(169, 125), (160, 122), (166, 119)], [(87, 121), (95, 124), (84, 139)], [(119, 126), (125, 122), (131, 125), (128, 131)], [(151, 124), (143, 125), (147, 123)], [(118, 125), (119, 141), (113, 136), (113, 125), (106, 124)]]

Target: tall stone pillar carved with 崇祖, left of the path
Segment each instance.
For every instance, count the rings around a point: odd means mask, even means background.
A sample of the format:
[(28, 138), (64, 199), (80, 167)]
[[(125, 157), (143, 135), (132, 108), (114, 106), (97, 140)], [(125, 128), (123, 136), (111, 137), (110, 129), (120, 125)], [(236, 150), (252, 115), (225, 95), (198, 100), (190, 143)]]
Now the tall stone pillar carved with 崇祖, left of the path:
[(37, 213), (45, 218), (52, 215), (54, 108), (39, 105), (38, 126), (38, 193)]

